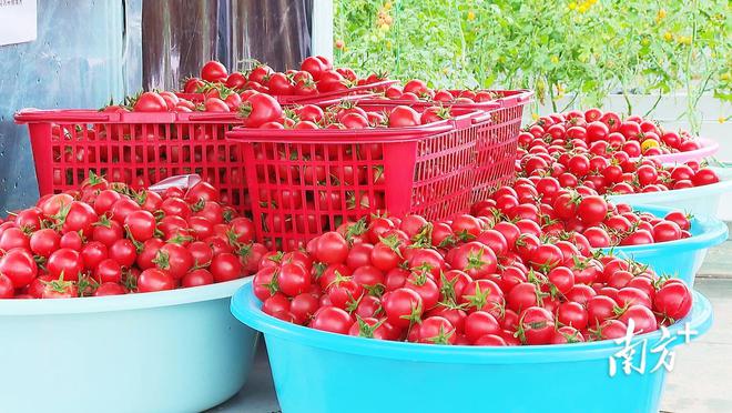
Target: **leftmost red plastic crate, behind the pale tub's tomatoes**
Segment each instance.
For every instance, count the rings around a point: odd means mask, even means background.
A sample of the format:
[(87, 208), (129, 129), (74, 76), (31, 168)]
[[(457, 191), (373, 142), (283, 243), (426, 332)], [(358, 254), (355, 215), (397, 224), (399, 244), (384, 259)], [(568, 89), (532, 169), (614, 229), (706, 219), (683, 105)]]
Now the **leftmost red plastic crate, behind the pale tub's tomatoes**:
[(139, 188), (196, 173), (250, 210), (241, 145), (225, 140), (234, 113), (27, 109), (16, 122), (28, 124), (41, 195), (78, 189), (90, 171)]

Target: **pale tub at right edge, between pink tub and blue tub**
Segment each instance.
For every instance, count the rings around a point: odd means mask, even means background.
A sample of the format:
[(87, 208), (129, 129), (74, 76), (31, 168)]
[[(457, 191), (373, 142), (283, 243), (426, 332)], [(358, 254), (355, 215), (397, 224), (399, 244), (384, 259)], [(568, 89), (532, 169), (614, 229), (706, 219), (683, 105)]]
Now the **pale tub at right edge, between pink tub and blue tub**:
[(732, 191), (732, 168), (713, 168), (720, 182), (682, 190), (609, 195), (614, 203), (668, 206), (694, 215), (719, 216), (722, 195)]

